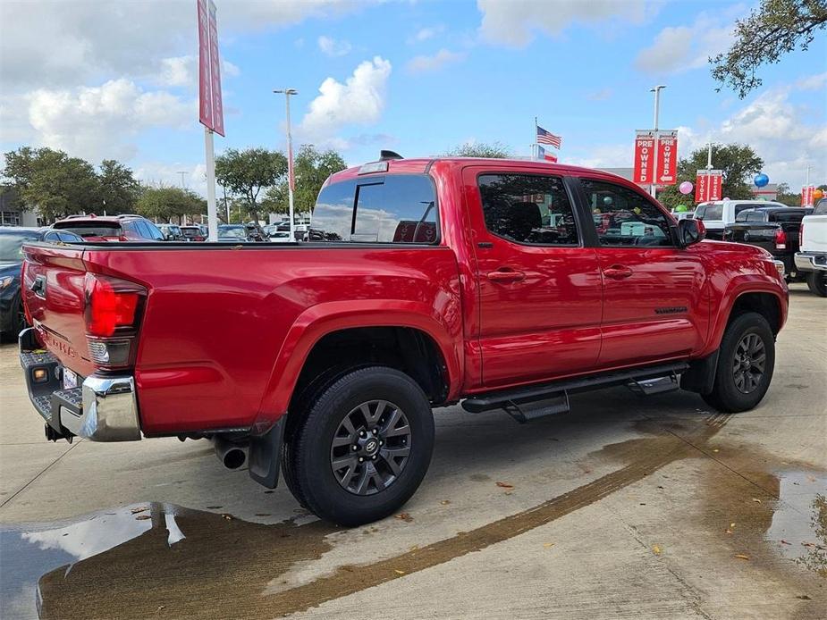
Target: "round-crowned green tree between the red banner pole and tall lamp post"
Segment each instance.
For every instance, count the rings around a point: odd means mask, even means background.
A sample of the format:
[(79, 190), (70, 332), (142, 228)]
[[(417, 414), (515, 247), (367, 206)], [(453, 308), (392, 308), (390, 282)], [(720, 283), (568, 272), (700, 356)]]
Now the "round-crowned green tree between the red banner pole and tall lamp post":
[(258, 221), (258, 195), (287, 174), (287, 158), (266, 148), (229, 149), (215, 158), (215, 178), (241, 197), (249, 216)]

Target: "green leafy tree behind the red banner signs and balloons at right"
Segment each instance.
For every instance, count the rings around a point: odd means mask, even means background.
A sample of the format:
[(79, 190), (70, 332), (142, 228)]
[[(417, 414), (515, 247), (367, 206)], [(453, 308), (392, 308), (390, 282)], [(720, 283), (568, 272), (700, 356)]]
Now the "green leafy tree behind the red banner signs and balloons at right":
[[(752, 198), (752, 177), (761, 172), (764, 160), (755, 154), (752, 147), (738, 144), (713, 144), (713, 166), (723, 171), (723, 197), (735, 199)], [(706, 168), (706, 148), (693, 151), (687, 158), (678, 162), (678, 182), (658, 192), (658, 200), (669, 209), (678, 205), (695, 205), (694, 191), (684, 196), (678, 191), (678, 186), (685, 180), (695, 184), (696, 173)]]

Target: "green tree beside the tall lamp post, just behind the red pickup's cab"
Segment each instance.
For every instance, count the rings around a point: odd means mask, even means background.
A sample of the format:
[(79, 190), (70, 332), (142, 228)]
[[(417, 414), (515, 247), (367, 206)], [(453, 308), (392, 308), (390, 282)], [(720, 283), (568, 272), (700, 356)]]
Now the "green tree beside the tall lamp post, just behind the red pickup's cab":
[[(299, 148), (293, 164), (296, 177), (293, 211), (297, 214), (313, 211), (316, 197), (327, 177), (348, 167), (342, 155), (333, 150), (318, 151), (312, 144)], [(268, 213), (289, 213), (287, 179), (267, 190), (265, 205)]]

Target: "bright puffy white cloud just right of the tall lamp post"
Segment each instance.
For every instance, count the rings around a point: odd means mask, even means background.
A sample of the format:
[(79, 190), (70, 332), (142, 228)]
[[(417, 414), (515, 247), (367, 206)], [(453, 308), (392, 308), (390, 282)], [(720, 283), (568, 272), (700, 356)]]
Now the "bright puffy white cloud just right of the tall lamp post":
[(380, 56), (365, 61), (342, 82), (327, 78), (319, 95), (310, 102), (299, 131), (305, 138), (330, 139), (349, 124), (367, 125), (379, 120), (384, 110), (385, 87), (391, 63)]

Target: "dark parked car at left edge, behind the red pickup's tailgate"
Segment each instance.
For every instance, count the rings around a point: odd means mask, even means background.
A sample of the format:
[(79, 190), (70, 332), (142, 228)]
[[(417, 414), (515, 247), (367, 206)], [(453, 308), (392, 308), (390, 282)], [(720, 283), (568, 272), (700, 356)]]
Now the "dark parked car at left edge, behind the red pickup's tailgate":
[(26, 326), (21, 297), (22, 246), (29, 241), (82, 242), (73, 232), (50, 228), (0, 227), (0, 337), (16, 339)]

